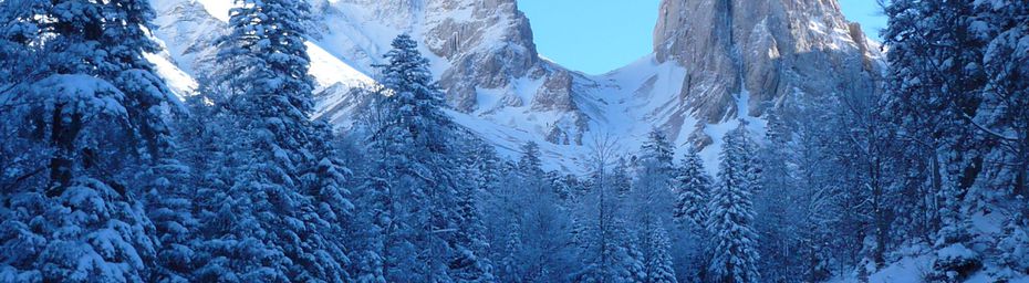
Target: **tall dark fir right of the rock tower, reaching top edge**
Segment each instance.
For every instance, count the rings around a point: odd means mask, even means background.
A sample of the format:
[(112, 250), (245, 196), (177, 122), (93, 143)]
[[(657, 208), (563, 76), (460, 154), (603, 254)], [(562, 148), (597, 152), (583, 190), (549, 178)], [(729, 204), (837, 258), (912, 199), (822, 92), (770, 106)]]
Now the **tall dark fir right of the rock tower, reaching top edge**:
[[(884, 31), (893, 66), (888, 109), (897, 127), (910, 135), (905, 138), (914, 142), (906, 144), (905, 154), (929, 157), (911, 166), (923, 179), (923, 193), (935, 198), (924, 209), (931, 218), (925, 232), (935, 233), (937, 249), (952, 251), (967, 250), (966, 198), (985, 166), (978, 153), (989, 150), (985, 140), (991, 139), (980, 133), (978, 122), (989, 115), (989, 107), (983, 107), (988, 76), (981, 64), (988, 36), (978, 32), (975, 6), (894, 1), (886, 9), (891, 20)], [(978, 268), (976, 256), (969, 252), (960, 259), (940, 259), (931, 277), (960, 280)]]

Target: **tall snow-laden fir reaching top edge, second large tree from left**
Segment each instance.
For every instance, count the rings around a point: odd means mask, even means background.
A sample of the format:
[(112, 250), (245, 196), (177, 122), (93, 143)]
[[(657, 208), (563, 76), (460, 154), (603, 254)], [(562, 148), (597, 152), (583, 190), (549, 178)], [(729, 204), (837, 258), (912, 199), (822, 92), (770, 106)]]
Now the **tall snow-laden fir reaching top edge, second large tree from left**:
[[(230, 11), (219, 56), (230, 69), (246, 67), (210, 82), (238, 91), (216, 105), (227, 109), (217, 120), (218, 135), (232, 137), (222, 149), (227, 158), (212, 160), (221, 163), (228, 189), (206, 208), (212, 213), (205, 218), (201, 244), (208, 260), (198, 280), (350, 280), (344, 239), (333, 233), (312, 196), (331, 182), (303, 178), (324, 168), (319, 163), (324, 156), (315, 154), (323, 140), (309, 118), (314, 81), (302, 23), (308, 9), (304, 1), (246, 0)], [(331, 160), (321, 165), (332, 167)]]

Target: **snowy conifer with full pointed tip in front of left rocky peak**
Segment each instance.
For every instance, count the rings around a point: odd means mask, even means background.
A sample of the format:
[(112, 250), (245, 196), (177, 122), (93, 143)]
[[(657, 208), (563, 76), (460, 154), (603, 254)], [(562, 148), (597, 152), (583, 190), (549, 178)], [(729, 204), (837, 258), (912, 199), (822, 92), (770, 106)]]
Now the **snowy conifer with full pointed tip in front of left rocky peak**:
[[(460, 247), (461, 189), (459, 135), (444, 114), (443, 93), (433, 82), (428, 61), (407, 34), (393, 41), (376, 65), (385, 87), (380, 97), (384, 114), (372, 129), (371, 144), (382, 155), (378, 171), (385, 174), (393, 220), (385, 228), (387, 281), (453, 281), (468, 276), (467, 265), (451, 260), (485, 259)], [(389, 208), (387, 208), (389, 209)], [(486, 266), (475, 263), (472, 265)], [(488, 272), (488, 269), (482, 270)], [(480, 273), (474, 277), (491, 277)]]

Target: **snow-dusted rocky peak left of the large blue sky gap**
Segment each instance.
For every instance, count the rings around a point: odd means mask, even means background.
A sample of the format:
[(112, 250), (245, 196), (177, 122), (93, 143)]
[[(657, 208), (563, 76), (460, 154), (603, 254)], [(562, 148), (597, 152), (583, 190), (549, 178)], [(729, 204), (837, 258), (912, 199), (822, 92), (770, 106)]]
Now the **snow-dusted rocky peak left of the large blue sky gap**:
[[(364, 54), (357, 65), (376, 63), (389, 39), (410, 33), (433, 59), (455, 111), (487, 119), (506, 108), (551, 111), (540, 134), (570, 133), (581, 140), (588, 116), (576, 111), (572, 85), (585, 78), (540, 59), (514, 0), (342, 0), (319, 7), (324, 38), (353, 46), (337, 52), (342, 56)], [(341, 21), (352, 28), (339, 29)]]

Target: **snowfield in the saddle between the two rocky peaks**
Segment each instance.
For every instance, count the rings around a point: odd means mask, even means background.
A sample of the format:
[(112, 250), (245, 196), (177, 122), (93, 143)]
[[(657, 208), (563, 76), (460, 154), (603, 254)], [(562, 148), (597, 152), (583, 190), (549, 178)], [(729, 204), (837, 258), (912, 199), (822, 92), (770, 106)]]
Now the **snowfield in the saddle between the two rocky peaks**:
[[(542, 84), (539, 80), (522, 78), (513, 84), (512, 90), (479, 90), (478, 111), (472, 114), (448, 113), (457, 123), (496, 145), (498, 153), (505, 157), (514, 158), (521, 144), (536, 142), (543, 154), (544, 168), (550, 170), (585, 174), (590, 168), (591, 145), (596, 138), (609, 135), (616, 139), (617, 150), (630, 157), (640, 149), (647, 134), (661, 125), (680, 127), (677, 135), (669, 137), (678, 148), (676, 158), (679, 158), (685, 154), (687, 137), (699, 123), (688, 113), (675, 112), (686, 108), (679, 97), (685, 73), (685, 67), (675, 62), (658, 64), (653, 55), (647, 55), (607, 74), (583, 76), (596, 82), (596, 85), (576, 88), (581, 96), (575, 97), (575, 102), (590, 118), (583, 145), (555, 145), (544, 140), (549, 126), (561, 123), (562, 115), (568, 114), (530, 109), (532, 95)], [(522, 105), (503, 105), (512, 97), (520, 99)], [(737, 96), (737, 106), (741, 109), (738, 113), (748, 113), (748, 99), (747, 93)], [(676, 122), (676, 118), (682, 122)], [(744, 118), (755, 139), (761, 140), (766, 122), (757, 117)], [(706, 125), (705, 133), (714, 144), (700, 155), (709, 174), (717, 172), (721, 138), (738, 125), (737, 119)]]

